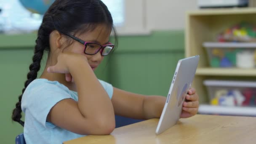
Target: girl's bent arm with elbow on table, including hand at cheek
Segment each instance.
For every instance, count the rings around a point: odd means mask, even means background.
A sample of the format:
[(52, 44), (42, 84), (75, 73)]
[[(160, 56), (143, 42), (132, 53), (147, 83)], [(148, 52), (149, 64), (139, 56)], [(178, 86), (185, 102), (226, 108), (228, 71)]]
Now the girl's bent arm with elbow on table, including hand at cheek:
[(56, 66), (50, 67), (48, 72), (70, 72), (77, 86), (78, 102), (73, 99), (59, 101), (49, 112), (47, 121), (83, 135), (104, 135), (114, 130), (111, 100), (85, 57), (61, 54)]

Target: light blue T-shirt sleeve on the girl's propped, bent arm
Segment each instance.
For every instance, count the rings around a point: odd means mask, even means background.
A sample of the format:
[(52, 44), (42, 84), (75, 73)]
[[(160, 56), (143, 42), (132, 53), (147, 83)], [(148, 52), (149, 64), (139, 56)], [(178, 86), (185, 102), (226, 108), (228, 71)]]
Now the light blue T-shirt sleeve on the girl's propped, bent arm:
[(22, 97), (22, 110), (29, 111), (34, 118), (46, 128), (54, 128), (55, 125), (46, 122), (51, 108), (63, 99), (71, 99), (70, 93), (60, 85), (44, 83), (34, 85), (25, 91)]

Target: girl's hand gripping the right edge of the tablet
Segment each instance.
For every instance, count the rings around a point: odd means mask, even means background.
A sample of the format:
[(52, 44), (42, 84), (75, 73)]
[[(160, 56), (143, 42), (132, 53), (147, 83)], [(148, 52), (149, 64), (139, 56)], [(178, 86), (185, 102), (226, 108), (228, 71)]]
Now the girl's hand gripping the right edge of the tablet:
[(190, 88), (183, 103), (181, 118), (192, 117), (197, 114), (199, 107), (199, 96), (195, 92), (195, 88)]

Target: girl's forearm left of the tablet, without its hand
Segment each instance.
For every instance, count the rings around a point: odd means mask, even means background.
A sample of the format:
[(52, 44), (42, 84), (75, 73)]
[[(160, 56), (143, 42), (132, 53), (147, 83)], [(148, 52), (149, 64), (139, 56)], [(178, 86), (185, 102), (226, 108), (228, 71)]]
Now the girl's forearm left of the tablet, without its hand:
[(165, 100), (163, 96), (145, 96), (114, 88), (111, 101), (115, 115), (150, 119), (160, 117)]

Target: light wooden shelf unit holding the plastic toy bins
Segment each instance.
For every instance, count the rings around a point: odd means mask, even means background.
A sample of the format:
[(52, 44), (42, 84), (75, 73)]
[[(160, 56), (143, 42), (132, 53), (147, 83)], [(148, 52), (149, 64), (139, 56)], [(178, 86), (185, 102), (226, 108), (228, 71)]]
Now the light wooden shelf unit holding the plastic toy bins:
[(256, 24), (256, 8), (204, 9), (186, 14), (185, 55), (200, 55), (193, 87), (200, 96), (200, 104), (209, 104), (207, 89), (203, 85), (206, 79), (220, 80), (256, 80), (256, 69), (211, 68), (204, 42), (214, 42), (225, 29), (246, 21)]

